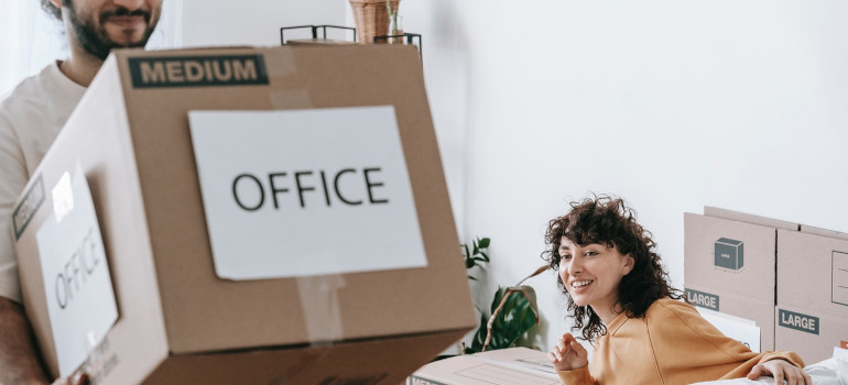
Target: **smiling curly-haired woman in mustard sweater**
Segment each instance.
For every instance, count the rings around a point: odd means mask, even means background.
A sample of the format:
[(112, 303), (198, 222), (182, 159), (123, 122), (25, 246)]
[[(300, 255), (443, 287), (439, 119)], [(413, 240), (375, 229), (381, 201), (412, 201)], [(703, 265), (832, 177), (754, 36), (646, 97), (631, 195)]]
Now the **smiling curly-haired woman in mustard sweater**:
[(548, 356), (563, 384), (691, 384), (772, 375), (776, 385), (812, 385), (793, 352), (753, 353), (702, 318), (670, 287), (651, 233), (621, 199), (572, 202), (550, 222), (543, 257), (558, 271), (574, 330)]

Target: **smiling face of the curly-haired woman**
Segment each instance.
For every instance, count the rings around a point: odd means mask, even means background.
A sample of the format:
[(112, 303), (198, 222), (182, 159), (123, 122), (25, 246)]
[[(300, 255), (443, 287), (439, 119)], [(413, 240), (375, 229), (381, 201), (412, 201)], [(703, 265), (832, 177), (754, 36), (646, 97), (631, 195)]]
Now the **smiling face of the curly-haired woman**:
[(577, 245), (563, 237), (559, 243), (559, 277), (577, 306), (595, 311), (612, 308), (621, 277), (633, 270), (633, 257), (606, 244)]

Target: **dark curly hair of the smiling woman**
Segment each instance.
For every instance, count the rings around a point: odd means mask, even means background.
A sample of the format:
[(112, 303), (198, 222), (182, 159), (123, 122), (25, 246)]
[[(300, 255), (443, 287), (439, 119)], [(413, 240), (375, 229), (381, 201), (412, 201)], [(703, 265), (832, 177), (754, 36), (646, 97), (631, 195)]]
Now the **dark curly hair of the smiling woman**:
[[(598, 243), (615, 246), (623, 254), (630, 254), (633, 270), (621, 278), (618, 287), (618, 305), (628, 317), (642, 318), (648, 308), (660, 298), (680, 299), (680, 290), (668, 285), (668, 274), (660, 264), (660, 255), (654, 251), (656, 243), (650, 231), (635, 220), (635, 211), (624, 200), (607, 195), (586, 198), (580, 202), (570, 202), (572, 210), (551, 220), (545, 232), (547, 249), (542, 258), (554, 271), (559, 270), (559, 242), (565, 237), (569, 241), (585, 246)], [(568, 299), (568, 311), (574, 311), (573, 330), (581, 330), (583, 339), (596, 341), (607, 333), (600, 317), (589, 306), (577, 306), (565, 283), (557, 274), (557, 283)]]

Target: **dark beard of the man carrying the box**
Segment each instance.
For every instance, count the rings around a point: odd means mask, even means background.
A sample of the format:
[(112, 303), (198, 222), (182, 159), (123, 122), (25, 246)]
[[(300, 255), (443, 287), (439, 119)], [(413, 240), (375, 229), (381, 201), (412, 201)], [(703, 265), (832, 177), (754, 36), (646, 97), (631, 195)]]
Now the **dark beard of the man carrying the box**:
[[(123, 7), (120, 7), (115, 11), (102, 12), (97, 15), (97, 18), (99, 18), (99, 24), (101, 25), (99, 29), (97, 29), (95, 25), (93, 25), (91, 20), (83, 20), (79, 18), (79, 14), (74, 7), (73, 0), (66, 0), (65, 3), (67, 4), (68, 13), (70, 16), (70, 25), (74, 29), (74, 34), (76, 34), (77, 41), (86, 52), (101, 61), (105, 61), (106, 57), (109, 56), (109, 52), (112, 48), (144, 47), (144, 45), (148, 44), (148, 38), (150, 38), (150, 35), (153, 33), (153, 29), (155, 28), (155, 23), (150, 23), (151, 14), (149, 10), (130, 11)], [(128, 44), (113, 42), (109, 37), (109, 34), (106, 32), (106, 29), (102, 26), (104, 22), (109, 16), (137, 15), (143, 16), (144, 22), (148, 24), (148, 29), (144, 31), (144, 36), (142, 36), (142, 38), (138, 42), (131, 42)]]

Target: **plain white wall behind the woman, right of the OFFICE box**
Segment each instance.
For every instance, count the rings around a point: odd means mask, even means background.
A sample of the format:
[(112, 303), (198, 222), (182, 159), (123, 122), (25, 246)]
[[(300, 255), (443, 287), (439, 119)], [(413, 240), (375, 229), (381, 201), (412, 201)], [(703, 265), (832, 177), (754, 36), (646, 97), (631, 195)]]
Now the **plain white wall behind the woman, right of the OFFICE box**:
[[(838, 1), (402, 0), (404, 29), (424, 35), (461, 237), (492, 238), (489, 286), (540, 265), (547, 220), (588, 191), (632, 204), (677, 287), (684, 211), (848, 232), (846, 12)], [(547, 349), (568, 326), (564, 300), (553, 275), (530, 283)]]

